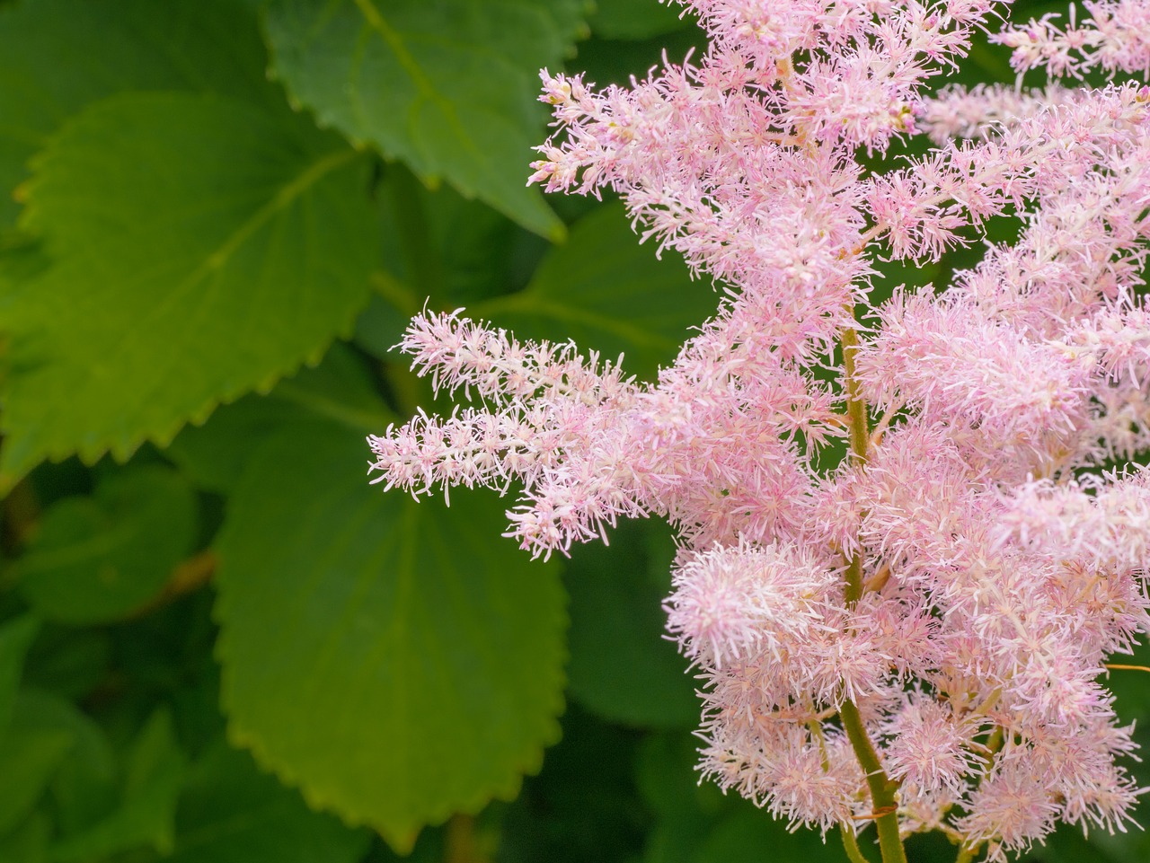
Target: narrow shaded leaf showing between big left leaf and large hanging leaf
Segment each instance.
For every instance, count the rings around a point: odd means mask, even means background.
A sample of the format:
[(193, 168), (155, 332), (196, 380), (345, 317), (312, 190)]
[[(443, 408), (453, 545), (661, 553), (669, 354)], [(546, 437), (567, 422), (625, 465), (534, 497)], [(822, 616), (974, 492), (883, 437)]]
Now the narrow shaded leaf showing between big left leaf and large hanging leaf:
[(167, 455), (198, 486), (225, 494), (274, 432), (331, 419), (362, 437), (379, 433), (391, 418), (362, 361), (337, 342), (320, 365), (300, 369), (267, 395), (245, 395), (218, 408), (206, 424), (186, 426)]

